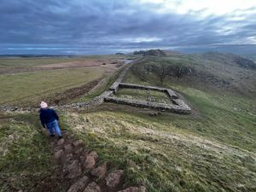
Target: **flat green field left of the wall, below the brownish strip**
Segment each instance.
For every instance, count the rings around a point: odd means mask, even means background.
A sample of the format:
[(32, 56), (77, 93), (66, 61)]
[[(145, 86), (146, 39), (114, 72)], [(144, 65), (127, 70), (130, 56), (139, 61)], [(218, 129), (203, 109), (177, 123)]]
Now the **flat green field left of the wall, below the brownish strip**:
[(0, 75), (0, 104), (40, 101), (49, 93), (60, 92), (102, 78), (102, 67), (59, 69), (33, 73)]

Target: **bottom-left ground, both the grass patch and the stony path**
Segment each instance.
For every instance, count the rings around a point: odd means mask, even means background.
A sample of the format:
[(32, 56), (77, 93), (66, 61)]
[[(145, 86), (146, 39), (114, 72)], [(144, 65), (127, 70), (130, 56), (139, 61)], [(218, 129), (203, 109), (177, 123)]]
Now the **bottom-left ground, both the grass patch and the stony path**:
[(0, 117), (0, 191), (145, 192), (67, 131), (49, 137), (32, 113)]

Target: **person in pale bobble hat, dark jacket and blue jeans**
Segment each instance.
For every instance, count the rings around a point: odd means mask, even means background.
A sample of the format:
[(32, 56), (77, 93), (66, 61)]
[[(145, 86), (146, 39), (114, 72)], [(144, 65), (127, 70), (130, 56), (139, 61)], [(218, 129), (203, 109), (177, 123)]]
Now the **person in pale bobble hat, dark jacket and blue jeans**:
[(44, 128), (46, 125), (49, 131), (49, 136), (54, 137), (56, 132), (58, 137), (61, 138), (62, 135), (61, 135), (60, 127), (58, 125), (58, 120), (59, 120), (58, 114), (55, 112), (54, 109), (48, 108), (48, 105), (46, 102), (41, 102), (40, 107), (41, 107), (40, 108), (41, 124), (44, 126)]

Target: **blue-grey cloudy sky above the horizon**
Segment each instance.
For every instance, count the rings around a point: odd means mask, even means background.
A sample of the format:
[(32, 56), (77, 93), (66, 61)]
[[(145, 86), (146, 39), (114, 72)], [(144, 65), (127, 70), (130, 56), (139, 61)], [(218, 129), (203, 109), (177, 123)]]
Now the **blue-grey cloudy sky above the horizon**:
[(1, 0), (0, 54), (254, 49), (255, 18), (254, 0)]

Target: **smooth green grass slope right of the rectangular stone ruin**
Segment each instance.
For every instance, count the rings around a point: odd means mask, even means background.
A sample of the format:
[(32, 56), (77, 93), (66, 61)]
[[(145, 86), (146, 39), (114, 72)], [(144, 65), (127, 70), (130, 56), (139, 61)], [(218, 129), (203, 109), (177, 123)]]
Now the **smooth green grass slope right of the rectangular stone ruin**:
[(177, 90), (185, 96), (201, 117), (198, 124), (189, 125), (178, 120), (177, 125), (181, 127), (185, 125), (189, 131), (203, 137), (256, 152), (255, 100), (229, 93), (221, 95), (184, 87), (177, 87)]

